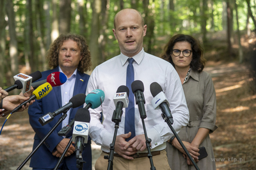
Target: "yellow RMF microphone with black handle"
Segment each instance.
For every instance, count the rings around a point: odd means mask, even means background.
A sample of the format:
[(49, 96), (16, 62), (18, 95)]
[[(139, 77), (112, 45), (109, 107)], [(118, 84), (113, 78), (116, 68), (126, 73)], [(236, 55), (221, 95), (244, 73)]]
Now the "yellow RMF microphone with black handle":
[(42, 97), (45, 97), (47, 94), (49, 94), (51, 90), (52, 90), (52, 86), (50, 85), (50, 83), (44, 83), (43, 85), (40, 85), (36, 90), (33, 91), (33, 95), (29, 97), (28, 101), (24, 101), (23, 103), (20, 103), (20, 105), (17, 106), (12, 111), (12, 113), (20, 110), (22, 106), (29, 103), (30, 101), (33, 101), (34, 99), (37, 99), (37, 100), (42, 99)]

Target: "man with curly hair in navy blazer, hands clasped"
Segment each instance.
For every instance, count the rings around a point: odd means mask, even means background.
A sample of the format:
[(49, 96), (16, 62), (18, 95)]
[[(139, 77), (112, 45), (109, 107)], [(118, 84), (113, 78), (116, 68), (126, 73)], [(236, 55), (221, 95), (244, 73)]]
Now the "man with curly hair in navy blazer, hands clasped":
[[(67, 81), (60, 87), (53, 87), (47, 96), (37, 100), (29, 107), (29, 122), (35, 131), (33, 150), (52, 127), (56, 125), (61, 114), (54, 117), (52, 122), (44, 126), (38, 122), (38, 119), (46, 113), (58, 110), (58, 108), (67, 104), (76, 94), (85, 94), (90, 76), (84, 74), (84, 72), (88, 71), (92, 65), (86, 40), (76, 34), (61, 34), (50, 46), (47, 59), (49, 60), (49, 67), (52, 67), (52, 69), (42, 72), (42, 78), (40, 80), (45, 80), (49, 74), (60, 71), (67, 76)], [(74, 119), (77, 110), (82, 107), (83, 105), (77, 108), (71, 108), (67, 112), (67, 117), (63, 120), (62, 125), (59, 125), (52, 132), (51, 136), (44, 142), (44, 145), (40, 146), (33, 157), (31, 157), (30, 167), (37, 170), (54, 169), (70, 138), (72, 138), (72, 131), (64, 137), (58, 136), (58, 132)], [(83, 164), (83, 169), (86, 170), (92, 169), (92, 149), (90, 144), (91, 140), (89, 139), (88, 143), (84, 145), (82, 153), (83, 160), (86, 161)], [(77, 159), (74, 151), (73, 142), (73, 145), (70, 145), (65, 158), (59, 166), (60, 169), (77, 169)]]

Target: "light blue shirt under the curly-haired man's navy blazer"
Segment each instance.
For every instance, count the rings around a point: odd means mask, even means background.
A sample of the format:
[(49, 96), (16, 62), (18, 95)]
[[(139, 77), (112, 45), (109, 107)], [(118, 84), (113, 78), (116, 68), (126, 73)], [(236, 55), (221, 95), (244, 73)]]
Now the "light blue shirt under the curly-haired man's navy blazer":
[[(60, 66), (59, 66), (59, 71), (61, 73), (63, 73)], [(60, 86), (62, 106), (67, 104), (69, 102), (69, 100), (73, 97), (74, 87), (75, 87), (75, 83), (76, 83), (76, 73), (77, 73), (77, 69), (74, 71), (72, 76), (70, 76), (70, 78), (68, 78), (67, 81), (63, 85)], [(67, 117), (62, 121), (61, 127), (65, 127), (68, 124), (69, 115), (70, 115), (70, 110), (67, 111)]]

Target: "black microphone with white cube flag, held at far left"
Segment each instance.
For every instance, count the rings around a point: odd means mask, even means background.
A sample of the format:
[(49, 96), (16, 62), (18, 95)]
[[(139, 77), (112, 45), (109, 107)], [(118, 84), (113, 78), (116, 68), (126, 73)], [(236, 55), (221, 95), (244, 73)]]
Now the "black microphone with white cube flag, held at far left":
[(36, 81), (39, 78), (42, 78), (42, 74), (40, 71), (36, 71), (29, 75), (19, 73), (19, 74), (13, 76), (13, 78), (15, 80), (14, 85), (12, 85), (11, 87), (8, 87), (4, 90), (6, 92), (10, 92), (14, 89), (21, 89), (21, 92), (24, 94), (31, 89), (31, 83), (33, 81)]

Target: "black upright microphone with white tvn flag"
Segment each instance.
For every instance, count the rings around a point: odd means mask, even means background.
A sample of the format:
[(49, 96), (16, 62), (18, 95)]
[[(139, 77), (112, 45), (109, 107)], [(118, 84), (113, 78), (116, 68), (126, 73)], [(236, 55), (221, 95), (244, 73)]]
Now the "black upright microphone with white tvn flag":
[(86, 108), (79, 108), (75, 115), (72, 141), (75, 141), (76, 159), (79, 159), (79, 153), (83, 152), (84, 143), (88, 142), (88, 132), (90, 123), (90, 112)]

